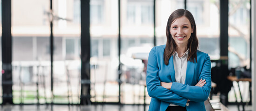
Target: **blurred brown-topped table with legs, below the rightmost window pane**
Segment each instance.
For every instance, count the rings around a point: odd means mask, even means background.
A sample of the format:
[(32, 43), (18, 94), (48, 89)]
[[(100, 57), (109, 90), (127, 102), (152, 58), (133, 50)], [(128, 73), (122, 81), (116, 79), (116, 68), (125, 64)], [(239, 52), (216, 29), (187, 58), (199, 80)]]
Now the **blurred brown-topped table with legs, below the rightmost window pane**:
[[(242, 102), (242, 93), (241, 93), (241, 90), (240, 90), (240, 86), (239, 86), (239, 81), (249, 81), (249, 83), (251, 84), (251, 78), (237, 78), (236, 76), (228, 76), (227, 77), (227, 79), (228, 80), (230, 80), (230, 81), (236, 81), (237, 82), (237, 84), (238, 84), (238, 89), (239, 89), (239, 94), (240, 94), (240, 98), (241, 98), (241, 104), (242, 104), (242, 111), (245, 111), (244, 110), (244, 103)], [(234, 93), (235, 93), (235, 88), (234, 88)], [(238, 104), (238, 102), (237, 102), (237, 96), (236, 96), (236, 94), (235, 94), (235, 102), (236, 102), (236, 104), (237, 104), (237, 108), (238, 108), (238, 111), (240, 111), (240, 109), (239, 109), (239, 104)]]

